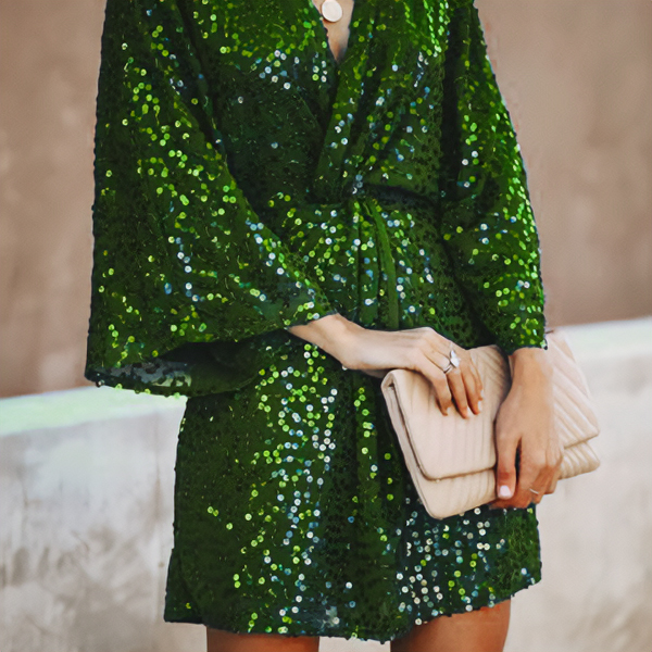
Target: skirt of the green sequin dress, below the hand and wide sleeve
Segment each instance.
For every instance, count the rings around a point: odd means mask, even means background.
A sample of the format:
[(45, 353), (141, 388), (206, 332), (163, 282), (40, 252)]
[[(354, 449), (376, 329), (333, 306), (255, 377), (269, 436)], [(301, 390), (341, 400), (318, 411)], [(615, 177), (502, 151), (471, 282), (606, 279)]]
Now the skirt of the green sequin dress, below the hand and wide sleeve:
[(432, 518), (380, 379), (299, 338), (188, 399), (175, 472), (167, 622), (385, 642), (540, 579), (535, 506)]

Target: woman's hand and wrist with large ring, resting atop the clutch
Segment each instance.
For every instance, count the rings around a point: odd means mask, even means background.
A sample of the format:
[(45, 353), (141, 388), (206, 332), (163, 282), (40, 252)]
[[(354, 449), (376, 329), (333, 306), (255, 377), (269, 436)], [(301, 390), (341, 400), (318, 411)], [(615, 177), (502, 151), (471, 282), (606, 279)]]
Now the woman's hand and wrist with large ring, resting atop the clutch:
[[(373, 330), (349, 322), (340, 314), (326, 315), (288, 330), (330, 353), (349, 369), (383, 377), (394, 368), (423, 374), (435, 388), (443, 414), (451, 405), (471, 418), (481, 410), (482, 381), (466, 349), (429, 327), (408, 330)], [(447, 374), (450, 353), (460, 358), (460, 366)]]

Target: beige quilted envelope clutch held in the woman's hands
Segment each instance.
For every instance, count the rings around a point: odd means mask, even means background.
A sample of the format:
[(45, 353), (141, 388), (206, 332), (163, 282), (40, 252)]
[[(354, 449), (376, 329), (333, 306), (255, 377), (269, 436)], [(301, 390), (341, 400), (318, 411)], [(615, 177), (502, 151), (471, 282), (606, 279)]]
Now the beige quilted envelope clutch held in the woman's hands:
[[(600, 431), (586, 378), (568, 342), (547, 334), (553, 365), (554, 417), (564, 460), (560, 479), (594, 471), (600, 461), (588, 441)], [(392, 369), (381, 389), (413, 484), (428, 513), (446, 518), (496, 496), (493, 423), (510, 389), (510, 365), (497, 346), (471, 349), (485, 389), (482, 411), (469, 419), (441, 414), (431, 384), (416, 372)]]

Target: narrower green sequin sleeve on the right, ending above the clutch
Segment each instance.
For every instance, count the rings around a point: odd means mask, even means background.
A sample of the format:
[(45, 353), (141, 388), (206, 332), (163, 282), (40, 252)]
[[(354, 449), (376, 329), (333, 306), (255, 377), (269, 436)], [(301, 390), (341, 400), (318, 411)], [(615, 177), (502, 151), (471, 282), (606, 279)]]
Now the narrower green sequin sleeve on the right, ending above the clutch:
[(539, 235), (525, 165), (473, 2), (454, 9), (448, 39), (440, 168), (444, 246), (488, 339), (506, 353), (547, 348)]

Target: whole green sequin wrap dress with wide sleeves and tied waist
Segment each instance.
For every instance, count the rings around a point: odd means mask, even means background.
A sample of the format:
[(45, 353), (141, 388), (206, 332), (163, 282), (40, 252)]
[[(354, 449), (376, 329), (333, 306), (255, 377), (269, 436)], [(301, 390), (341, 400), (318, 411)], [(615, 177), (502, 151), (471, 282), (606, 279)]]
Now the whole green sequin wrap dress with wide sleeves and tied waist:
[(387, 641), (540, 579), (535, 510), (436, 521), (333, 313), (546, 347), (524, 162), (472, 0), (108, 0), (86, 377), (188, 397), (164, 618)]

